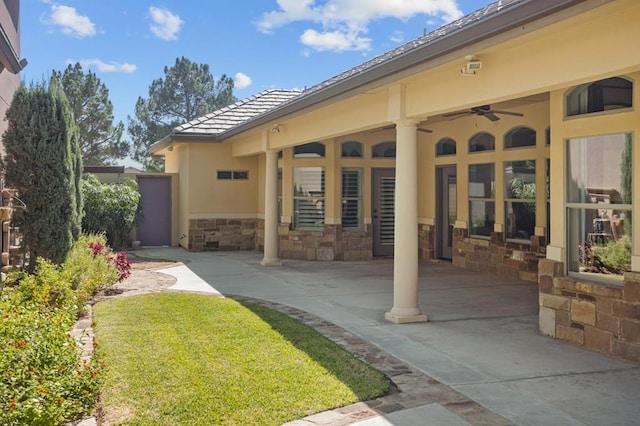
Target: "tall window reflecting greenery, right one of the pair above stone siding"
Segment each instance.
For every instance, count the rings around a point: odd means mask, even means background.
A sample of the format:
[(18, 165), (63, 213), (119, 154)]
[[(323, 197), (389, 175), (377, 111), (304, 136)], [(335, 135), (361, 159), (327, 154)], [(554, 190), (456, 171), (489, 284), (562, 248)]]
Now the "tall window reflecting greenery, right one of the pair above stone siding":
[(505, 237), (530, 241), (536, 229), (536, 162), (504, 163)]

